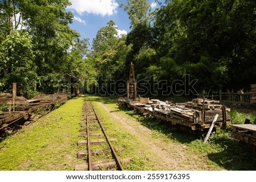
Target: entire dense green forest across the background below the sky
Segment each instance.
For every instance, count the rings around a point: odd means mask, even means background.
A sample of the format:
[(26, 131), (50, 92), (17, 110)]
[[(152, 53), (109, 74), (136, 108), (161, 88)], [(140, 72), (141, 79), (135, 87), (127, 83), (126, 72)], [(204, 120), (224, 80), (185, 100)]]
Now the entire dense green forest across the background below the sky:
[(256, 83), (255, 0), (167, 0), (154, 11), (147, 0), (128, 0), (121, 6), (131, 31), (118, 36), (110, 20), (92, 45), (69, 27), (68, 0), (0, 2), (0, 92), (16, 82), (27, 98), (71, 87), (122, 94), (131, 61), (141, 86), (164, 83), (140, 94), (162, 95), (188, 76), (196, 94)]

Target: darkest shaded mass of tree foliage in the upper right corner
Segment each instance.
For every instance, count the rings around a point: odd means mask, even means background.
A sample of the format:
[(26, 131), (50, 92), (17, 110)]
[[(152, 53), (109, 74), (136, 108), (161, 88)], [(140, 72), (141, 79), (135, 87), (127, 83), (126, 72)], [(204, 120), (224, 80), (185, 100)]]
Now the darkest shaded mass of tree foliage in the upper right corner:
[(234, 81), (251, 84), (256, 78), (255, 7), (254, 1), (167, 1), (154, 16), (157, 51), (199, 79), (201, 90)]

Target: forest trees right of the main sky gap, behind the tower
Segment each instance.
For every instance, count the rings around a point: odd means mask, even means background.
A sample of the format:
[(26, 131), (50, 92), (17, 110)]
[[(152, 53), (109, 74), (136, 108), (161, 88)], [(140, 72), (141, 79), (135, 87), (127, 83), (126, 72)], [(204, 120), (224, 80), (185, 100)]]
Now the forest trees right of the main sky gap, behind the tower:
[[(198, 79), (193, 88), (199, 94), (214, 94), (226, 87), (250, 90), (254, 84), (255, 1), (174, 0), (155, 11), (146, 0), (129, 0), (122, 6), (131, 21), (127, 36), (118, 39), (110, 21), (93, 41), (90, 59), (97, 62), (97, 73), (103, 76), (103, 81), (98, 80), (102, 93), (113, 94), (113, 88), (108, 89), (113, 79), (129, 78), (130, 61), (135, 64), (137, 80), (148, 81), (141, 82), (142, 87), (158, 83), (152, 90), (138, 89), (140, 94), (158, 91), (162, 95), (166, 83), (174, 86), (172, 83), (184, 81), (185, 75), (189, 75), (189, 83)], [(170, 93), (180, 94), (179, 88)]]

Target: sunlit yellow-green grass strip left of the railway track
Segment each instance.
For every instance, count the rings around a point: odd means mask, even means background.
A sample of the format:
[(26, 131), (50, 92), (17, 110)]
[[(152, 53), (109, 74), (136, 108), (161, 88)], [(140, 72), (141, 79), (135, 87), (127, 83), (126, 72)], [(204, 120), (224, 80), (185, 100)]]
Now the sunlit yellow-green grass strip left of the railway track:
[(58, 109), (0, 143), (0, 170), (73, 170), (84, 98)]

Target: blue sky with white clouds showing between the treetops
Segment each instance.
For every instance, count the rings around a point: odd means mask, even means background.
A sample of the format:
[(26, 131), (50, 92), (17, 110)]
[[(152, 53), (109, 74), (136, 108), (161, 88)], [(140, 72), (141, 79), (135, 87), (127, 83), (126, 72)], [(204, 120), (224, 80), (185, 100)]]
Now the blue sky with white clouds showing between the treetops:
[[(118, 32), (128, 33), (130, 31), (130, 20), (127, 12), (120, 8), (121, 3), (126, 0), (69, 0), (72, 5), (67, 11), (74, 14), (72, 29), (80, 33), (81, 38), (89, 38), (90, 44), (101, 27), (105, 27), (109, 20), (113, 20), (117, 25)], [(162, 1), (163, 2), (163, 1)], [(156, 4), (154, 0), (148, 0), (152, 10)]]

